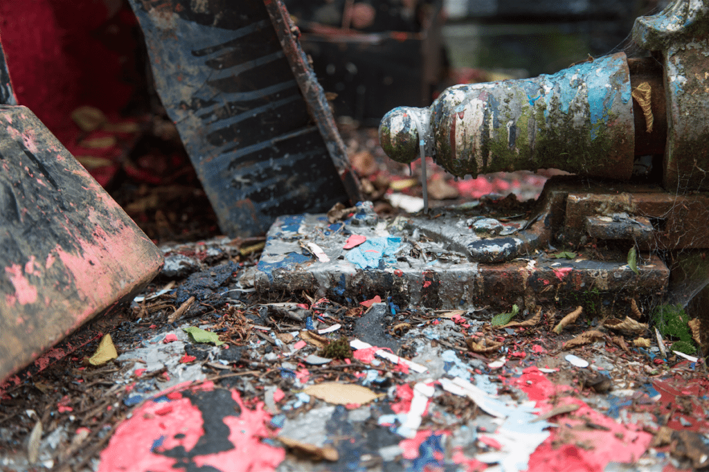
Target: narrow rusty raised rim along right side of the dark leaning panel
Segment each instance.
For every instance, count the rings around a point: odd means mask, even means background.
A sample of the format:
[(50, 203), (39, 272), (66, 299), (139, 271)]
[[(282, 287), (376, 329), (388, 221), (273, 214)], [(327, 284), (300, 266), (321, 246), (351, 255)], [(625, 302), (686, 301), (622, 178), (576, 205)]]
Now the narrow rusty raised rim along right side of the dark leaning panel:
[(308, 57), (298, 42), (297, 38), (300, 35), (298, 27), (293, 23), (286, 6), (281, 0), (264, 0), (264, 4), (271, 17), (281, 47), (286, 53), (286, 59), (294, 72), (296, 82), (298, 82), (298, 86), (303, 93), (303, 98), (308, 104), (308, 111), (323, 136), (325, 146), (328, 147), (328, 152), (330, 152), (333, 164), (335, 164), (335, 168), (340, 174), (345, 191), (350, 196), (350, 203), (354, 204), (362, 201), (362, 193), (359, 191), (359, 179), (352, 172), (350, 159), (347, 158), (345, 143), (342, 142), (342, 137), (337, 131), (335, 118), (330, 111), (328, 100), (325, 99), (325, 91), (320, 86), (313, 67), (308, 62)]

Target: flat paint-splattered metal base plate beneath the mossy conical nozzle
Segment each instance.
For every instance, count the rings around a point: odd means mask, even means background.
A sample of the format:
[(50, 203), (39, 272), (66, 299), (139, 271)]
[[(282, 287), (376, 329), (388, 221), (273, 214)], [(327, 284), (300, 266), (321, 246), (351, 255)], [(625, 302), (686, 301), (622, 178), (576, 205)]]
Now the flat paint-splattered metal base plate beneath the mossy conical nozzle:
[[(558, 259), (538, 249), (548, 242), (548, 232), (538, 232), (535, 245), (523, 249), (510, 242), (522, 241), (525, 220), (501, 224), (505, 230), (491, 236), (467, 227), (474, 216), (445, 213), (387, 223), (367, 218), (360, 207), (345, 223), (330, 224), (325, 215), (279, 218), (269, 230), (256, 287), (262, 293), (306, 290), (350, 301), (388, 293), (391, 303), (402, 308), (558, 302), (593, 305), (599, 314), (625, 309), (630, 298), (649, 303), (666, 291), (669, 270), (656, 256), (645, 259), (638, 274), (625, 260)], [(543, 228), (546, 219), (535, 224)], [(366, 240), (345, 249), (352, 237)], [(309, 243), (328, 260), (316, 257)], [(490, 254), (497, 254), (498, 264), (490, 263)]]

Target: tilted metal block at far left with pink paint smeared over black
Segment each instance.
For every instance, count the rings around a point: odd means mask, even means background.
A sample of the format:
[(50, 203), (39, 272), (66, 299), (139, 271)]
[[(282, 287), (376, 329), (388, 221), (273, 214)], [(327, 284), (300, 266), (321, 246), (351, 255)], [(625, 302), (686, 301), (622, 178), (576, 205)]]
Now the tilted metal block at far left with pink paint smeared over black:
[(0, 106), (0, 120), (1, 380), (144, 286), (164, 259), (28, 108)]

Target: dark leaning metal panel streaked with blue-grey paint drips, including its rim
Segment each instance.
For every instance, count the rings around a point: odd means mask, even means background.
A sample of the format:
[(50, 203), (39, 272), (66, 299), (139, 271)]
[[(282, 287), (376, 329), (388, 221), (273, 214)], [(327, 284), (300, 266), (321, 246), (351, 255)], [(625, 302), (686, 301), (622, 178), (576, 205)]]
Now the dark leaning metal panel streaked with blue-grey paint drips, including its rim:
[(357, 199), (336, 131), (323, 133), (333, 119), (298, 31), (280, 2), (266, 3), (275, 23), (257, 0), (218, 9), (131, 1), (162, 103), (231, 236), (263, 234), (278, 215)]

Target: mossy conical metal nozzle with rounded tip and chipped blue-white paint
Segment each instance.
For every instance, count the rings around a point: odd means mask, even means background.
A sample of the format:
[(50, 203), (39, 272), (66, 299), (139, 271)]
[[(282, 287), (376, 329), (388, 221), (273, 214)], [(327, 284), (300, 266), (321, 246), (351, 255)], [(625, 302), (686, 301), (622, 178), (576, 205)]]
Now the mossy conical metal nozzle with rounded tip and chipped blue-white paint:
[[(419, 109), (420, 110), (420, 109)], [(628, 179), (635, 128), (622, 52), (533, 79), (452, 86), (425, 110), (436, 162), (457, 176), (555, 167)], [(383, 120), (384, 150), (411, 162), (418, 133), (396, 108)]]

